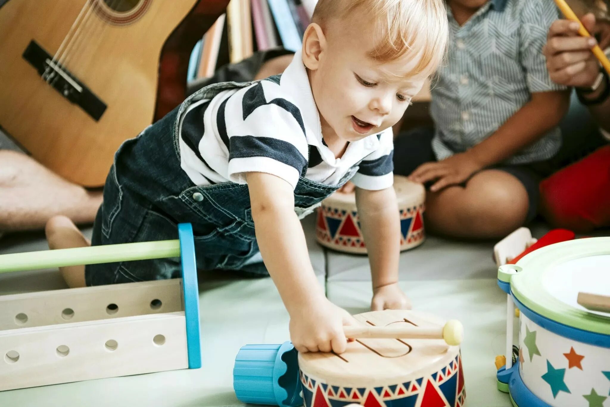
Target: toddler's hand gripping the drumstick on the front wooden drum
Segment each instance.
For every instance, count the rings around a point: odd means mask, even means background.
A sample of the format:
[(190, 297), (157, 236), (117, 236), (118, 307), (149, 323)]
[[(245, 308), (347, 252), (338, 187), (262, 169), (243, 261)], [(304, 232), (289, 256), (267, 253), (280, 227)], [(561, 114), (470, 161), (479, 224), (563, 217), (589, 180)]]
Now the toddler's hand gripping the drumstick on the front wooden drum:
[(290, 315), (290, 339), (301, 353), (343, 353), (347, 347), (344, 325), (358, 322), (345, 309), (323, 298), (320, 303), (298, 309), (297, 315)]

